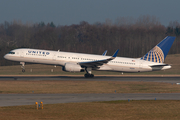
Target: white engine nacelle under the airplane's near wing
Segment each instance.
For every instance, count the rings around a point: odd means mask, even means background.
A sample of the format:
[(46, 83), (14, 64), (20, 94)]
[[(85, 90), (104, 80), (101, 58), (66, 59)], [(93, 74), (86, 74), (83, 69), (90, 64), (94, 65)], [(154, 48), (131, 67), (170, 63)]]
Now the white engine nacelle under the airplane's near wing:
[(66, 72), (84, 72), (84, 69), (76, 63), (65, 63), (62, 70)]

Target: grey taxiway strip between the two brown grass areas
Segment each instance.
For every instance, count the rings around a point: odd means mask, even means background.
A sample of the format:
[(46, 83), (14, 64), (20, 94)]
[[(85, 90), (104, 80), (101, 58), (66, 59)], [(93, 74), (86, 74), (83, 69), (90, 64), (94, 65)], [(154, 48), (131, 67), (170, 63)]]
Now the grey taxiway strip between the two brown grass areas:
[(0, 106), (93, 102), (112, 100), (180, 100), (180, 93), (128, 93), (128, 94), (1, 94)]

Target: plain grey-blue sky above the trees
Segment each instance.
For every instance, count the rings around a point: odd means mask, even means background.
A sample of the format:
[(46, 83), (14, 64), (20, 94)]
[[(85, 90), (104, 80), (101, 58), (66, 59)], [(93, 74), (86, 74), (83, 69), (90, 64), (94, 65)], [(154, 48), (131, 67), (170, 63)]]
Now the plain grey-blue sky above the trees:
[(180, 0), (0, 0), (0, 23), (93, 24), (142, 15), (155, 16), (165, 26), (180, 22)]

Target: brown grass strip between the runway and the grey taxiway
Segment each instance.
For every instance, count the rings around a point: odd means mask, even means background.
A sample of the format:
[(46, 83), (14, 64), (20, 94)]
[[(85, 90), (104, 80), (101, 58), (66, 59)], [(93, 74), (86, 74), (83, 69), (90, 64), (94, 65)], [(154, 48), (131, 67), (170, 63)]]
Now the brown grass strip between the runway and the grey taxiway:
[(179, 93), (176, 84), (126, 81), (0, 81), (0, 93)]

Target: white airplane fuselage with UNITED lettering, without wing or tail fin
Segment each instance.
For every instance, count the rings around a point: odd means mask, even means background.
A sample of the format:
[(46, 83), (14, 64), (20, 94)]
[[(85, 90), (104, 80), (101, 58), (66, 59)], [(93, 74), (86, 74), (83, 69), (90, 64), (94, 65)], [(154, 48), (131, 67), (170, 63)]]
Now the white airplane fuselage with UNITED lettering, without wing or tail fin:
[[(11, 51), (11, 54), (6, 54), (5, 59), (19, 62), (41, 63), (64, 66), (65, 63), (79, 63), (108, 59), (111, 56), (82, 54), (73, 52), (40, 50), (20, 48)], [(121, 72), (147, 72), (153, 70), (169, 69), (171, 66), (163, 66), (152, 69), (152, 65), (163, 65), (164, 63), (150, 62), (140, 60), (139, 58), (124, 58), (116, 57), (107, 64), (99, 66), (96, 70), (121, 71)]]

